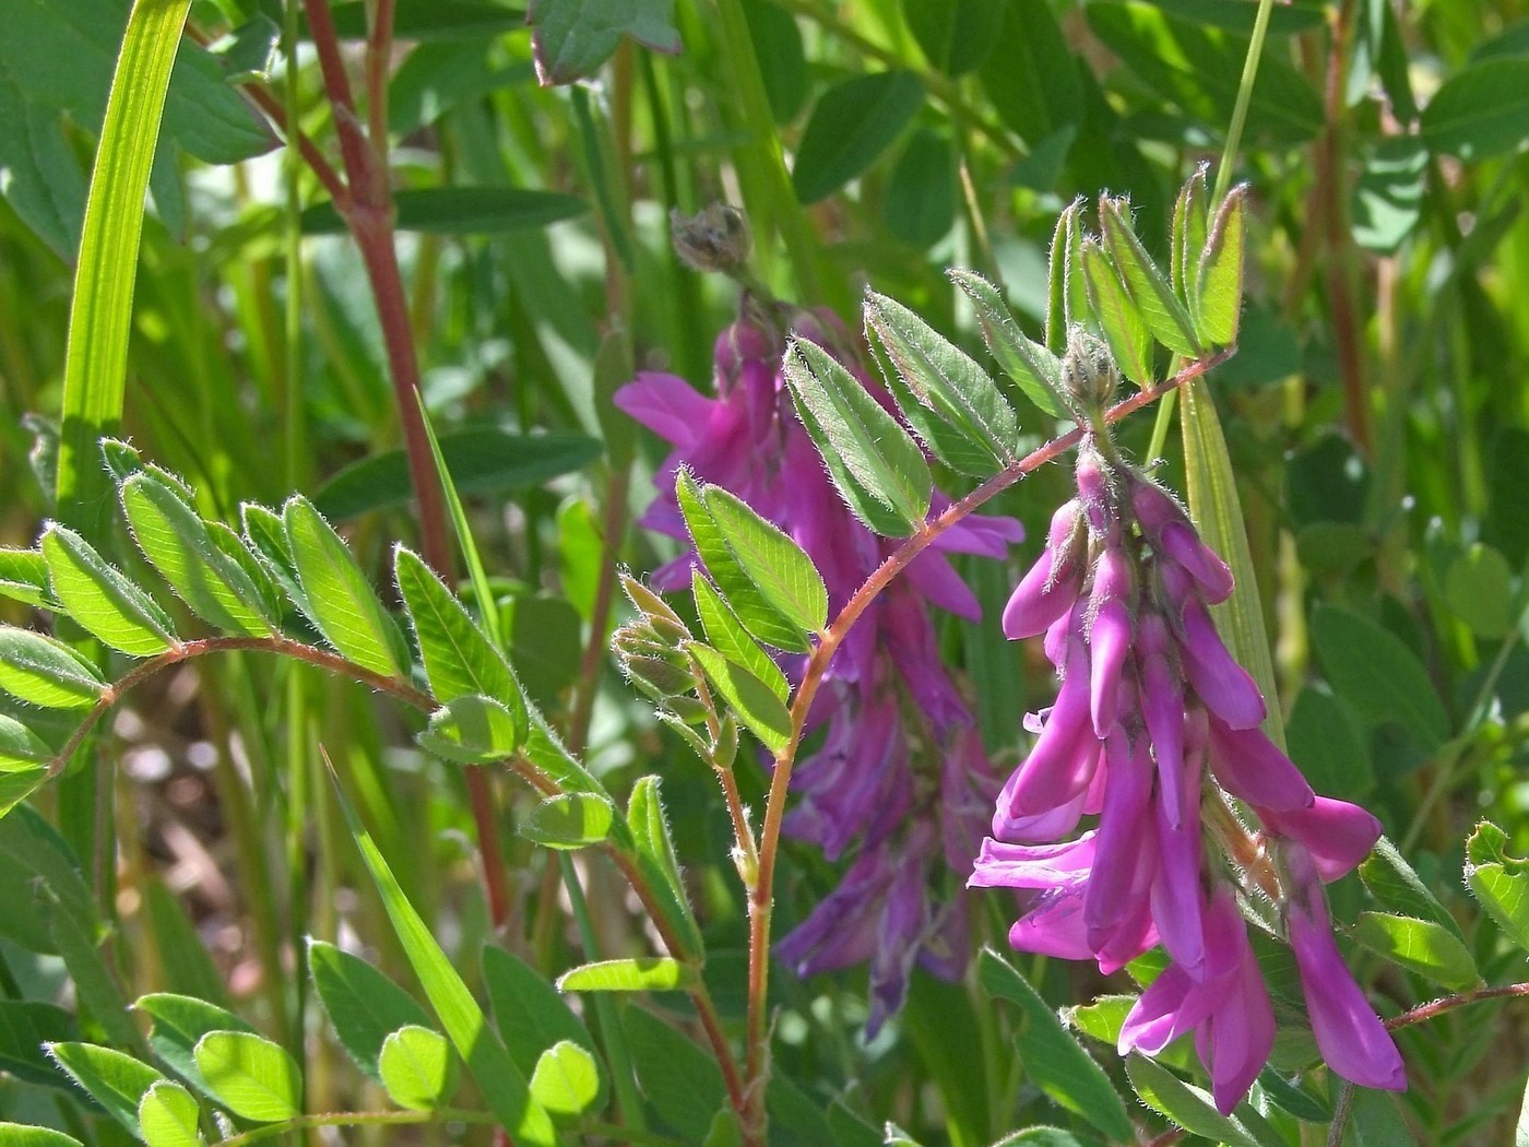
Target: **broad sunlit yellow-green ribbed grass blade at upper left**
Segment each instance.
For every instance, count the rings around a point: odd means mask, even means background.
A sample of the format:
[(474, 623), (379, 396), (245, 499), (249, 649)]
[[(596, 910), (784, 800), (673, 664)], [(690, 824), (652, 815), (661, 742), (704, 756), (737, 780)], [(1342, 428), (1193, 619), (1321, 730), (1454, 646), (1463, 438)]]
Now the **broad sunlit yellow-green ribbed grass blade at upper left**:
[(90, 174), (69, 309), (57, 477), (60, 517), (87, 538), (99, 537), (110, 505), (96, 444), (122, 418), (144, 200), (190, 9), (191, 0), (133, 5)]

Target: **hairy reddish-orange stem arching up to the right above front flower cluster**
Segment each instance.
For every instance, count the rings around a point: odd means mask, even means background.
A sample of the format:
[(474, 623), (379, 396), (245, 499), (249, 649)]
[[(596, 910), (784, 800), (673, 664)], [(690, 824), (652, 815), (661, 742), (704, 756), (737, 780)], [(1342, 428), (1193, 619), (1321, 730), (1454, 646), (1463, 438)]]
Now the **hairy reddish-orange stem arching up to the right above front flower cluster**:
[[(1104, 414), (1107, 424), (1118, 422), (1127, 414), (1141, 410), (1164, 395), (1176, 392), (1212, 367), (1225, 362), (1235, 353), (1235, 347), (1228, 347), (1217, 355), (1191, 362), (1167, 382), (1141, 390), (1122, 402), (1116, 402)], [(838, 616), (823, 632), (823, 636), (807, 658), (807, 667), (797, 688), (797, 696), (790, 703), (790, 736), (786, 745), (775, 754), (775, 768), (771, 775), (769, 797), (764, 804), (764, 824), (760, 829), (758, 850), (758, 881), (749, 896), (749, 1003), (748, 1003), (748, 1060), (746, 1060), (746, 1090), (749, 1098), (749, 1118), (745, 1119), (745, 1136), (748, 1142), (763, 1142), (764, 1135), (764, 1080), (768, 1077), (768, 1040), (766, 1040), (766, 994), (769, 986), (769, 927), (774, 908), (775, 858), (780, 849), (781, 823), (786, 818), (786, 792), (790, 788), (790, 772), (801, 743), (803, 728), (807, 723), (807, 713), (818, 696), (818, 687), (827, 673), (829, 662), (838, 651), (850, 629), (870, 607), (878, 595), (902, 574), (908, 564), (928, 549), (948, 529), (969, 517), (979, 506), (1003, 492), (1026, 474), (1052, 462), (1072, 450), (1083, 440), (1084, 430), (1073, 430), (1052, 439), (1038, 450), (1012, 462), (1005, 470), (983, 482), (966, 497), (951, 503), (940, 515), (930, 518), (907, 538), (896, 552), (891, 554), (865, 580), (855, 595), (844, 604)]]

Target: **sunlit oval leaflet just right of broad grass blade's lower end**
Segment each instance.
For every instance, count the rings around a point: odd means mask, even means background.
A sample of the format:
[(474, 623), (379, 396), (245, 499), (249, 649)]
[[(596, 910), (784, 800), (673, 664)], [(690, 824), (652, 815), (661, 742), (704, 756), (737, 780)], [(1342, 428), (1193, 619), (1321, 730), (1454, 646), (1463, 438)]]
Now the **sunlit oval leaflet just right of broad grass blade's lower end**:
[(150, 473), (133, 474), (122, 483), (122, 512), (144, 557), (199, 618), (257, 638), (274, 632), (258, 587), (173, 486)]

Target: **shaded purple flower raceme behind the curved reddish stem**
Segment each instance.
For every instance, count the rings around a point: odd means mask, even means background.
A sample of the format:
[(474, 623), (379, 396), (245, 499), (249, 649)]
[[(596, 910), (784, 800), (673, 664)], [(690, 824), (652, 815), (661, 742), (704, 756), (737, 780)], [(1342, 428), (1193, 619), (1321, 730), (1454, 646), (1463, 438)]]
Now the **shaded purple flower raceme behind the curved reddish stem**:
[[(654, 589), (687, 587), (697, 563), (674, 494), (680, 466), (786, 531), (823, 574), (830, 612), (890, 552), (844, 506), (797, 418), (781, 373), (787, 329), (879, 393), (833, 315), (748, 298), (745, 317), (717, 338), (714, 398), (662, 373), (642, 373), (618, 392), (622, 410), (674, 444), (642, 525), (687, 551), (653, 574)], [(936, 512), (948, 505), (936, 502)], [(997, 783), (971, 711), (940, 665), (928, 607), (976, 619), (977, 599), (948, 555), (1003, 557), (1020, 535), (1017, 522), (998, 517), (971, 517), (946, 532), (850, 630), (807, 716), (807, 736), (821, 740), (797, 762), (784, 830), (829, 859), (853, 859), (775, 951), (803, 976), (868, 962), (870, 1032), (901, 1006), (914, 963), (945, 977), (965, 963), (965, 901), (928, 889), (946, 870), (969, 870)], [(801, 659), (781, 664), (800, 679)]]

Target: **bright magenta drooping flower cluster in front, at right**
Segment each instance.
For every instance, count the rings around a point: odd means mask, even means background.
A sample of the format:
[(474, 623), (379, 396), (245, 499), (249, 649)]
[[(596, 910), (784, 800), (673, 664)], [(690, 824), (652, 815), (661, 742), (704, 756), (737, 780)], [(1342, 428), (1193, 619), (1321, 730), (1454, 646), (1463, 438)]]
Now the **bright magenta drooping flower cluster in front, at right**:
[[(1249, 918), (1289, 941), (1327, 1064), (1404, 1087), (1323, 892), (1379, 821), (1313, 794), (1260, 729), (1263, 696), (1206, 609), (1231, 572), (1179, 503), (1092, 434), (1076, 485), (1003, 615), (1011, 639), (1044, 635), (1061, 688), (1027, 720), (1035, 746), (998, 795), (971, 884), (1023, 890), (1009, 933), (1021, 951), (1113, 973), (1161, 944), (1170, 963), (1125, 1017), (1121, 1052), (1193, 1032), (1223, 1113), (1274, 1045)], [(1084, 817), (1096, 821), (1076, 833)]]

